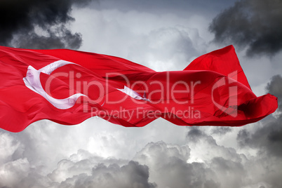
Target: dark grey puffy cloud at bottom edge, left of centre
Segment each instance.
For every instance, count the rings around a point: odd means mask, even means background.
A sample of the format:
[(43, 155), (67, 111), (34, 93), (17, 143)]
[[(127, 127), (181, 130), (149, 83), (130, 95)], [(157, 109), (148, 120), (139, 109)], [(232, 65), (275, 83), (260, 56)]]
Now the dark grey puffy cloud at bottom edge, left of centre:
[[(117, 188), (154, 188), (156, 184), (148, 182), (149, 170), (147, 166), (135, 161), (129, 161), (124, 166), (111, 164), (105, 166), (100, 163), (92, 169), (92, 174), (81, 173), (69, 177), (58, 187), (117, 187)], [(73, 184), (74, 183), (74, 184)]]

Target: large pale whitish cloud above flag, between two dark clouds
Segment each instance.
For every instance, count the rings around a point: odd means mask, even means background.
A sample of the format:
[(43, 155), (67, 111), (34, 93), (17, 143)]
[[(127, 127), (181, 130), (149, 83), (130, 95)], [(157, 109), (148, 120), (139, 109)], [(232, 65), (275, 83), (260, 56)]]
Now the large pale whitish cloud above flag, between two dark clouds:
[(87, 39), (83, 51), (116, 55), (157, 71), (184, 69), (206, 52), (206, 41), (196, 27), (208, 21), (199, 15), (187, 20), (173, 14), (87, 8), (74, 15), (74, 30)]

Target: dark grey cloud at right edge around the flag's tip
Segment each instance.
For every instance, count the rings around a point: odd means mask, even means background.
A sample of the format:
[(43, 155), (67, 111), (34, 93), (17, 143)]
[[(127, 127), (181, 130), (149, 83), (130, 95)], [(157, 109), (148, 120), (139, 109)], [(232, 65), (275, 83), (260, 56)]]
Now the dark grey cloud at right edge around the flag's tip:
[[(282, 77), (273, 76), (267, 84), (267, 90), (278, 98), (278, 112), (282, 111)], [(264, 126), (258, 128), (254, 133), (248, 130), (240, 130), (237, 140), (241, 147), (253, 147), (260, 150), (262, 154), (271, 154), (282, 158), (282, 114), (278, 117), (268, 118), (264, 121)]]

